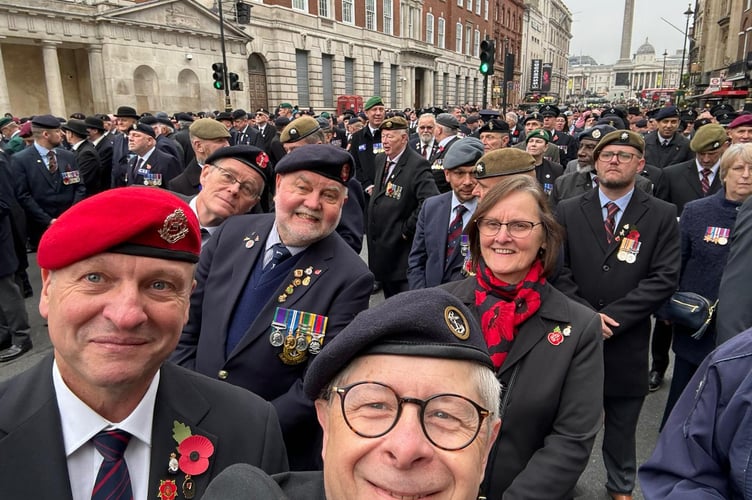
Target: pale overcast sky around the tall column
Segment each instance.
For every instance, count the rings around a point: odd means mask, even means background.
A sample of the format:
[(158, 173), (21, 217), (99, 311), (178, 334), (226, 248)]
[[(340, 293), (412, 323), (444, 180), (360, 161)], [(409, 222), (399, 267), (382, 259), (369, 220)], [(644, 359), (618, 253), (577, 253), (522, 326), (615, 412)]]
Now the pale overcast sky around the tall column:
[[(648, 38), (656, 55), (681, 51), (687, 22), (687, 0), (635, 0), (630, 57)], [(692, 4), (694, 5), (694, 1)], [(613, 64), (619, 59), (624, 17), (624, 0), (564, 0), (572, 13), (572, 40), (569, 53), (591, 56), (598, 64)], [(679, 28), (664, 22), (666, 19)], [(692, 21), (690, 19), (690, 26)]]

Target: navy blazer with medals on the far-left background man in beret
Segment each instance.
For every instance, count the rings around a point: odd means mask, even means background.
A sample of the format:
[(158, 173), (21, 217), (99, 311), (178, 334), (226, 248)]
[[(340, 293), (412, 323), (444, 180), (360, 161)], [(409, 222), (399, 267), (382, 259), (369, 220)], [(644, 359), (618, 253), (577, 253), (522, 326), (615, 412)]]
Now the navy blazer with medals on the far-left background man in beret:
[(10, 157), (16, 198), (26, 211), (26, 216), (44, 227), (86, 196), (80, 175), (78, 182), (63, 182), (64, 172), (78, 170), (73, 153), (55, 148), (55, 156), (58, 167), (56, 174), (47, 170), (44, 160), (33, 145)]

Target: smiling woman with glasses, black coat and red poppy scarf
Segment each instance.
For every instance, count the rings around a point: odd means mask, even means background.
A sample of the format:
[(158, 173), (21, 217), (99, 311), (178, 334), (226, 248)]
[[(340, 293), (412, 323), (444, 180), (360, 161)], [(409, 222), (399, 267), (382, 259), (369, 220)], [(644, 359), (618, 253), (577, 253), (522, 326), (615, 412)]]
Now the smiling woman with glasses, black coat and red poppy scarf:
[(477, 314), (502, 383), (481, 495), (573, 498), (601, 426), (600, 317), (546, 280), (563, 234), (535, 178), (494, 186), (467, 232), (474, 275), (442, 287)]

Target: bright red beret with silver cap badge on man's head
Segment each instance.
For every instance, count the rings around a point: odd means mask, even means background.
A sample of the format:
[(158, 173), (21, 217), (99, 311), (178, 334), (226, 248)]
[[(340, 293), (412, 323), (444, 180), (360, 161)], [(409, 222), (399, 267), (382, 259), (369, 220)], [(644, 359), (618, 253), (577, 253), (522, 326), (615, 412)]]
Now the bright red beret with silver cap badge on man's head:
[(162, 189), (105, 191), (66, 210), (42, 236), (39, 267), (61, 269), (103, 252), (198, 262), (201, 231), (193, 210)]

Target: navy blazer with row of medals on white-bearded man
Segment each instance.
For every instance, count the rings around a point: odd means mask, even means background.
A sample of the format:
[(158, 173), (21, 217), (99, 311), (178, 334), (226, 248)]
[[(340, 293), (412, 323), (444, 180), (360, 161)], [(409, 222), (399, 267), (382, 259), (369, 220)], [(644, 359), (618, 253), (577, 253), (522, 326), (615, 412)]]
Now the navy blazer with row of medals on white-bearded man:
[[(313, 402), (303, 393), (303, 375), (310, 357), (303, 363), (286, 365), (279, 357), (282, 348), (269, 342), (276, 308), (327, 316), (326, 348), (328, 340), (368, 308), (373, 275), (338, 234), (312, 244), (295, 265), (300, 270), (311, 268), (310, 283), (296, 286), (294, 293), (280, 301), (295, 279), (294, 270), (290, 270), (226, 358), (225, 343), (233, 312), (256, 260), (263, 259), (273, 224), (273, 214), (237, 215), (214, 232), (201, 250), (188, 323), (172, 359), (271, 401), (279, 414), (290, 463), (294, 465), (312, 459), (312, 454), (320, 461), (320, 449), (310, 449), (319, 429)], [(249, 245), (249, 241), (253, 244)]]

